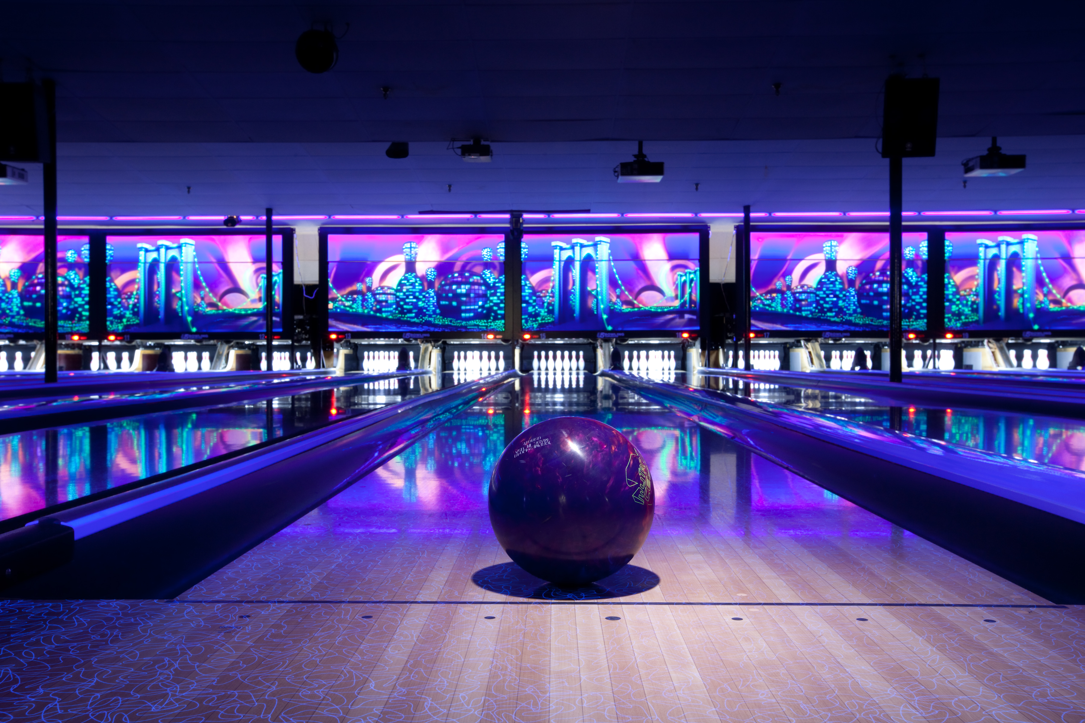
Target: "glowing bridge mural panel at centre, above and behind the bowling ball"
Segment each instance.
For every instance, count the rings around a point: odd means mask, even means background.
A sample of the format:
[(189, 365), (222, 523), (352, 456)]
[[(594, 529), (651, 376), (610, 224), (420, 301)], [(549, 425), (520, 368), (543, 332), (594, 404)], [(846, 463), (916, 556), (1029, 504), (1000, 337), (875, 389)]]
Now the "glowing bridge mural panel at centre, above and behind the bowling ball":
[(700, 240), (699, 233), (525, 234), (523, 326), (697, 328)]

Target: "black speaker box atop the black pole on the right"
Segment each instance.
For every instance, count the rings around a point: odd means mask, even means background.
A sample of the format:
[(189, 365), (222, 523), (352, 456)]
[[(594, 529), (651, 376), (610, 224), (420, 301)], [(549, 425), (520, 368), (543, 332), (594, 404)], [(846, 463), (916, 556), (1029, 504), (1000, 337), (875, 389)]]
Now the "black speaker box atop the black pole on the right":
[(939, 129), (939, 79), (891, 76), (885, 81), (882, 158), (934, 155)]

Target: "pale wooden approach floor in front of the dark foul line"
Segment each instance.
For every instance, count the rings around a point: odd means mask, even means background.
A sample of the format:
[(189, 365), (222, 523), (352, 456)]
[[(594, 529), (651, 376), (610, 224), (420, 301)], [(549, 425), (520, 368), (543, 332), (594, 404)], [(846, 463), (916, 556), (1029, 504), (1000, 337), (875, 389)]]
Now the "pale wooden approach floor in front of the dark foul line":
[(36, 650), (9, 659), (0, 703), (12, 720), (979, 722), (1085, 711), (1080, 609), (35, 607), (5, 605), (5, 651)]

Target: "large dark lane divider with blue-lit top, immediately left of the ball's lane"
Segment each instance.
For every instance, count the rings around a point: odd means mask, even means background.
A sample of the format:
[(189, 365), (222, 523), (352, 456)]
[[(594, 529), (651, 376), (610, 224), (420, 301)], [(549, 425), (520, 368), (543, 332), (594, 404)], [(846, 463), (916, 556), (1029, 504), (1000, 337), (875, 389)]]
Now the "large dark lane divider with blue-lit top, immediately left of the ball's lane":
[(503, 390), (508, 371), (0, 534), (0, 597), (171, 598)]

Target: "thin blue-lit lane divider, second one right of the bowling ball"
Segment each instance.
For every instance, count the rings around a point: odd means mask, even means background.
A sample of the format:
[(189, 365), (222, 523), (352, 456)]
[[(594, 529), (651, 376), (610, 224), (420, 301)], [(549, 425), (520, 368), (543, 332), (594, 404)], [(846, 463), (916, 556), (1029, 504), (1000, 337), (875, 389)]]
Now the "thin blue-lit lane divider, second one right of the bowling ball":
[(702, 376), (728, 376), (746, 382), (805, 389), (825, 389), (868, 397), (889, 404), (1024, 412), (1085, 418), (1085, 385), (1074, 383), (928, 377), (905, 374), (903, 384), (870, 372), (762, 372), (702, 366)]

